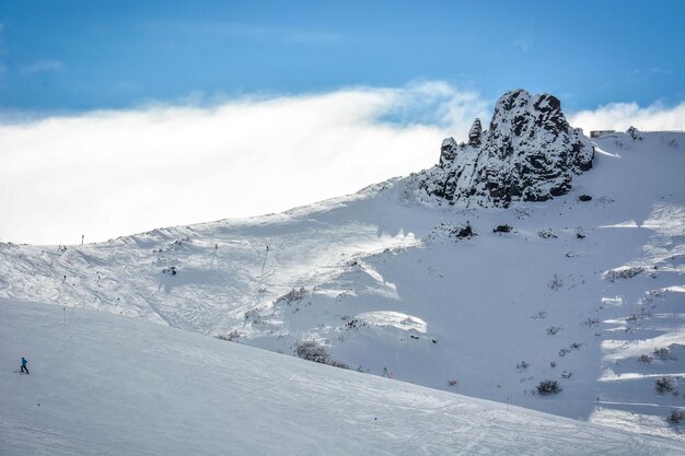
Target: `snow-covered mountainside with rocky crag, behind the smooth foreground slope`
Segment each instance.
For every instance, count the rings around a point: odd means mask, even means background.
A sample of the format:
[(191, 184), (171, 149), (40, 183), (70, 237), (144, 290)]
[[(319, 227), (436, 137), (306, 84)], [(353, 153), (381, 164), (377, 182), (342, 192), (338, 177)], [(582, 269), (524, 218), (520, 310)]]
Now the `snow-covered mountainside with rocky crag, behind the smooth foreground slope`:
[(685, 407), (685, 135), (590, 142), (523, 91), (479, 129), (427, 172), (281, 214), (0, 244), (0, 297), (683, 441), (664, 417)]

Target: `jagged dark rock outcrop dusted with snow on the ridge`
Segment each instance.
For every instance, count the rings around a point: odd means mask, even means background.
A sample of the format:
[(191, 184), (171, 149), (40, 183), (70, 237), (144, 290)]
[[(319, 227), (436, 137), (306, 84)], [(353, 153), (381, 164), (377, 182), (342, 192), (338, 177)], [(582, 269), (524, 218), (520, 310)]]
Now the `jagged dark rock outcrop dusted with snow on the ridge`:
[(468, 144), (442, 142), (440, 162), (419, 176), (419, 197), (454, 204), (508, 207), (567, 194), (574, 174), (592, 167), (594, 148), (573, 129), (555, 96), (507, 92), (490, 127), (476, 119)]

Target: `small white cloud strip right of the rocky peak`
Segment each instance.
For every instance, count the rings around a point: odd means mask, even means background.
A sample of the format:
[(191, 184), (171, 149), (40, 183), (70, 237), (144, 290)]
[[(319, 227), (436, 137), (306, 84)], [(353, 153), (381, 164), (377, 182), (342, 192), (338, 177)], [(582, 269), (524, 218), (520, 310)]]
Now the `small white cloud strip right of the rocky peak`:
[(683, 130), (685, 128), (685, 103), (667, 107), (654, 103), (640, 107), (637, 103), (612, 103), (596, 109), (581, 110), (568, 116), (573, 127), (591, 130), (625, 131), (635, 126), (638, 130)]

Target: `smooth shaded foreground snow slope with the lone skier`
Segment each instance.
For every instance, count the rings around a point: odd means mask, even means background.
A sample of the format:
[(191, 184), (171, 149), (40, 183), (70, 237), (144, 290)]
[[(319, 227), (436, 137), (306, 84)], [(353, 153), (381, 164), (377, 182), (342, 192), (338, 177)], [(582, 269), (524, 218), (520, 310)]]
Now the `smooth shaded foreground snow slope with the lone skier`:
[(2, 455), (676, 455), (685, 444), (116, 315), (0, 301)]

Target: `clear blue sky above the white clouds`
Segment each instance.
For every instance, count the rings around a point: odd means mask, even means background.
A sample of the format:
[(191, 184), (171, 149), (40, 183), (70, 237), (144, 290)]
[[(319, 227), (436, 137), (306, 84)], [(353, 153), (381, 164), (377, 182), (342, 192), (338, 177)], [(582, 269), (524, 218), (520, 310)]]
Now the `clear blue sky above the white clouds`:
[[(523, 3), (518, 4), (518, 3)], [(0, 107), (321, 93), (446, 81), (572, 110), (685, 100), (683, 1), (0, 2)]]

